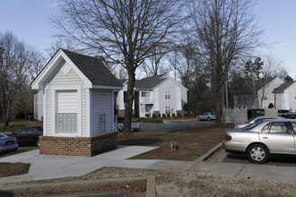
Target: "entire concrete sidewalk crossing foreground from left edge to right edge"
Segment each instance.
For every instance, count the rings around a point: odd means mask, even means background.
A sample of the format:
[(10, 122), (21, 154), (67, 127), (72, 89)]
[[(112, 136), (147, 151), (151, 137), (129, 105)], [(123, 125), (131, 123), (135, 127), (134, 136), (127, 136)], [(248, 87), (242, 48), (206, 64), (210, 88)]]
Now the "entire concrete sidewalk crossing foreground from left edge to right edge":
[(0, 178), (0, 184), (67, 176), (83, 176), (100, 167), (191, 171), (296, 183), (296, 167), (205, 161), (206, 158), (209, 158), (215, 150), (220, 148), (220, 146), (221, 144), (218, 144), (205, 155), (196, 159), (196, 161), (127, 159), (146, 151), (156, 149), (155, 147), (144, 146), (118, 146), (117, 150), (111, 150), (91, 158), (39, 155), (39, 150), (32, 150), (10, 157), (0, 158), (0, 162), (22, 162), (31, 164), (30, 171), (27, 175), (3, 177)]

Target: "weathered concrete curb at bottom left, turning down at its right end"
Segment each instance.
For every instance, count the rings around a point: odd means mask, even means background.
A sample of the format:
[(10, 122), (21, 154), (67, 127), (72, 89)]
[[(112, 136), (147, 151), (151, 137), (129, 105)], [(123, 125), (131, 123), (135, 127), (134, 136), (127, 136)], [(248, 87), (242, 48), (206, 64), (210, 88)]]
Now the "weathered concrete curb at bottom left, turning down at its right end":
[[(2, 191), (11, 193), (46, 193), (50, 191), (70, 192), (79, 191), (87, 188), (96, 188), (105, 186), (108, 184), (125, 184), (134, 181), (147, 181), (146, 193), (154, 193), (155, 196), (155, 184), (153, 184), (153, 177), (139, 176), (139, 177), (124, 177), (124, 178), (109, 178), (103, 180), (82, 180), (82, 181), (67, 181), (67, 182), (55, 182), (44, 184), (27, 184), (27, 185), (14, 185), (5, 186), (0, 188)], [(155, 183), (155, 177), (154, 177)]]

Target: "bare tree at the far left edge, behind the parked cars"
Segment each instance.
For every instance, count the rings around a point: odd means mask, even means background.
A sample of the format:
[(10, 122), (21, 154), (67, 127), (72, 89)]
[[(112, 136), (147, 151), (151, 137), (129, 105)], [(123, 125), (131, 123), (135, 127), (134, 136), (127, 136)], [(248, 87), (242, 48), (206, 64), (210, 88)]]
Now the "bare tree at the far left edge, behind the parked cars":
[(15, 95), (27, 78), (27, 56), (25, 45), (12, 32), (0, 33), (0, 105), (6, 126)]

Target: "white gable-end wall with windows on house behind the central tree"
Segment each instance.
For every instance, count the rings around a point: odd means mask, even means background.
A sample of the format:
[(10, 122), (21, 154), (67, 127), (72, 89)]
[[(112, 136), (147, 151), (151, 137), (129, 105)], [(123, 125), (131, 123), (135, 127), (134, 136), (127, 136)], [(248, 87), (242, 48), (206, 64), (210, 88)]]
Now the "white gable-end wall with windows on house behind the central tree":
[[(170, 108), (173, 109), (172, 113), (176, 114), (176, 101), (177, 101), (177, 92), (176, 92), (176, 86), (172, 84), (171, 81), (164, 81), (161, 86), (159, 87), (159, 96), (160, 96), (160, 111), (161, 114), (165, 114), (165, 107), (170, 106)], [(165, 91), (170, 91), (170, 99), (166, 100), (164, 99), (164, 93)], [(171, 112), (171, 111), (170, 111)]]

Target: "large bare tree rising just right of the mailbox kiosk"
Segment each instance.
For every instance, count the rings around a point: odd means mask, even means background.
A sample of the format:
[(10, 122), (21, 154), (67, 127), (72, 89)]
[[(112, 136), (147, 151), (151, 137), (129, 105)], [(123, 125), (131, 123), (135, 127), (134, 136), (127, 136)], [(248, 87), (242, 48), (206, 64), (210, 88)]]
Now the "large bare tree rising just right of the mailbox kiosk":
[(181, 25), (178, 0), (63, 0), (54, 23), (84, 47), (121, 64), (128, 74), (123, 133), (131, 133), (135, 70)]

